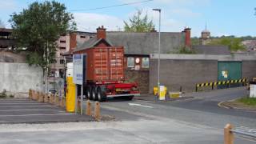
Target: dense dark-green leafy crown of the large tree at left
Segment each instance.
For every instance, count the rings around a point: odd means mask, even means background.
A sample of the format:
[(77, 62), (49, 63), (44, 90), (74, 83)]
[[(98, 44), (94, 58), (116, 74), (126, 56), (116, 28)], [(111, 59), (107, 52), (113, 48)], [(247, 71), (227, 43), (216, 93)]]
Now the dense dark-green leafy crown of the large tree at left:
[(18, 50), (26, 50), (26, 61), (41, 66), (54, 62), (58, 40), (67, 30), (75, 30), (74, 17), (59, 2), (33, 2), (21, 13), (11, 15), (13, 36)]

